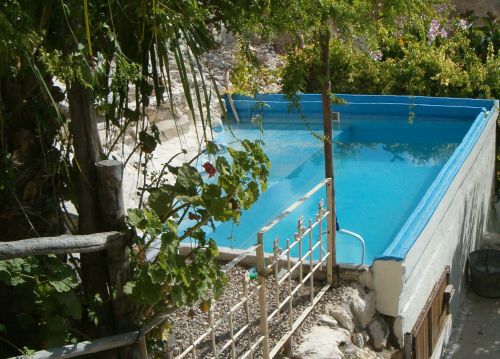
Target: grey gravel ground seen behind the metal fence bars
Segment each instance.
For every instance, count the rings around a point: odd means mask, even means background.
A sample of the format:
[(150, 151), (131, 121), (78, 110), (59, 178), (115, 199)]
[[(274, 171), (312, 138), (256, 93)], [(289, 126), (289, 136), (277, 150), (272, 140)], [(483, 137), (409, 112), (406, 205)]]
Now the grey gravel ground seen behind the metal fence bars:
[[(235, 305), (243, 294), (243, 280), (246, 275), (246, 269), (242, 267), (234, 267), (228, 273), (229, 283), (224, 291), (224, 294), (215, 302), (214, 307), (214, 322), (220, 320), (221, 317), (225, 317), (221, 324), (215, 330), (215, 342), (218, 350), (228, 342), (230, 338), (230, 322), (229, 322), (229, 308)], [(276, 309), (276, 298), (275, 298), (275, 284), (274, 276), (269, 276), (266, 281), (267, 288), (267, 303), (268, 303), (268, 313), (271, 313)], [(321, 289), (324, 283), (315, 283), (315, 294)], [(251, 280), (249, 286), (249, 292), (254, 292), (249, 297), (249, 312), (246, 313), (245, 306), (241, 306), (233, 314), (233, 333), (236, 334), (247, 323), (249, 324), (248, 330), (242, 334), (235, 343), (235, 354), (236, 357), (240, 357), (246, 350), (248, 350), (248, 339), (251, 338), (252, 342), (256, 340), (260, 334), (260, 315), (259, 315), (259, 295), (256, 290), (257, 280)], [(296, 281), (292, 281), (292, 287), (297, 286)], [(314, 324), (315, 313), (321, 313), (324, 306), (328, 302), (339, 301), (341, 288), (336, 288), (334, 290), (328, 290), (325, 293), (323, 299), (318, 303), (314, 310), (312, 316), (306, 319), (300, 328), (300, 331), (307, 330)], [(281, 300), (288, 295), (288, 285), (287, 281), (282, 284), (280, 289)], [(293, 298), (293, 320), (295, 320), (300, 313), (309, 304), (309, 288), (304, 288), (302, 293), (299, 291)], [(212, 304), (214, 305), (214, 304)], [(248, 315), (248, 318), (247, 318)], [(173, 324), (174, 333), (174, 345), (173, 353), (178, 355), (182, 353), (191, 344), (191, 334), (194, 340), (196, 340), (200, 335), (202, 335), (208, 328), (208, 314), (201, 311), (200, 308), (185, 308), (171, 317)], [(289, 308), (285, 305), (281, 312), (273, 318), (269, 323), (269, 333), (271, 338), (271, 348), (287, 331), (289, 323)], [(300, 342), (300, 334), (295, 336), (294, 341)], [(230, 358), (232, 357), (232, 348), (229, 346), (226, 350), (219, 353), (219, 358)], [(192, 358), (192, 354), (188, 354), (186, 357)], [(212, 336), (208, 335), (199, 345), (196, 347), (196, 357), (197, 358), (213, 358), (212, 351)], [(254, 358), (262, 357), (262, 347), (259, 346), (254, 354)]]

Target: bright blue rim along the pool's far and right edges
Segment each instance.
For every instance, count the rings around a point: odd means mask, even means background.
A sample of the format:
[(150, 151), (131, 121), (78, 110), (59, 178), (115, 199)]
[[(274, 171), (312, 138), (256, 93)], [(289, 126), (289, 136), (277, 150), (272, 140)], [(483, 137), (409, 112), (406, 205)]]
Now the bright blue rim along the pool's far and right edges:
[[(462, 99), (426, 96), (379, 96), (337, 94), (346, 104), (333, 104), (332, 111), (342, 116), (349, 115), (400, 115), (407, 120), (411, 112), (419, 116), (471, 121), (472, 125), (431, 184), (422, 200), (412, 212), (394, 240), (376, 260), (402, 261), (418, 236), (429, 222), (451, 182), (465, 162), (472, 148), (493, 116), (498, 101), (484, 99)], [(307, 117), (308, 121), (321, 121), (322, 102), (319, 94), (300, 94), (300, 111), (290, 106), (283, 94), (257, 94), (255, 97), (232, 95), (241, 121), (250, 121), (256, 115), (272, 115), (274, 121), (290, 121), (294, 117)], [(230, 118), (234, 118), (226, 106)]]

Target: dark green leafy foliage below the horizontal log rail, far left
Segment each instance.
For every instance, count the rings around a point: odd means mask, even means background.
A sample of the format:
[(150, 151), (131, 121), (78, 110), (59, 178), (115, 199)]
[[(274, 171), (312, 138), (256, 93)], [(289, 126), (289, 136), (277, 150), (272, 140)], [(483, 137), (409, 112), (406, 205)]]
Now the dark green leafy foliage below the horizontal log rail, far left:
[(73, 268), (53, 255), (0, 261), (2, 286), (15, 288), (2, 309), (17, 313), (20, 332), (9, 331), (10, 336), (25, 338), (26, 346), (42, 342), (51, 347), (71, 339), (67, 328), (82, 315)]

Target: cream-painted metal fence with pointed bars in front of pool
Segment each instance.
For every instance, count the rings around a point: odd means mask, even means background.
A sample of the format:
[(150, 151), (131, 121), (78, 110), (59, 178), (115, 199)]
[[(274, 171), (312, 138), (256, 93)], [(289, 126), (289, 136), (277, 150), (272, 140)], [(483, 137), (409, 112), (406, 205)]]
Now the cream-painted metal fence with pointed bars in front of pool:
[[(280, 248), (277, 238), (266, 237), (284, 217), (325, 188), (326, 207), (321, 199), (315, 217), (306, 226), (300, 217), (295, 233), (291, 233), (293, 240), (286, 239), (284, 248)], [(241, 278), (239, 298), (219, 317), (212, 305), (206, 316), (206, 331), (197, 338), (190, 334), (189, 346), (180, 353), (172, 350), (170, 357), (273, 358), (282, 350), (291, 352), (293, 334), (333, 283), (332, 195), (332, 180), (325, 179), (263, 227), (255, 247), (258, 282), (251, 281), (248, 275)], [(265, 253), (267, 240), (273, 241), (272, 253)], [(316, 288), (320, 271), (323, 284)], [(258, 303), (257, 313), (252, 313), (255, 308), (251, 303)], [(271, 335), (278, 327), (283, 334)]]

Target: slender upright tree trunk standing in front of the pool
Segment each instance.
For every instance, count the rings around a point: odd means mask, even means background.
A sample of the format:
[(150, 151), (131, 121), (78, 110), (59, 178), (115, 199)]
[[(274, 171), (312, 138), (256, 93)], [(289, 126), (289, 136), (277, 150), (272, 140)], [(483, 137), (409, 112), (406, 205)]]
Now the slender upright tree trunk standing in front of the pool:
[[(328, 27), (328, 19), (324, 19), (323, 28), (320, 33), (320, 48), (321, 48), (321, 101), (323, 106), (323, 144), (325, 151), (325, 177), (332, 179), (332, 225), (329, 228), (332, 231), (333, 249), (332, 259), (333, 267), (337, 265), (335, 237), (336, 237), (336, 213), (335, 213), (335, 179), (333, 172), (333, 138), (332, 138), (332, 102), (330, 98), (330, 29)], [(334, 272), (334, 280), (337, 276)]]

